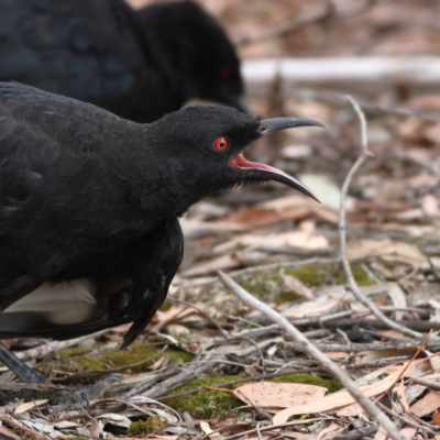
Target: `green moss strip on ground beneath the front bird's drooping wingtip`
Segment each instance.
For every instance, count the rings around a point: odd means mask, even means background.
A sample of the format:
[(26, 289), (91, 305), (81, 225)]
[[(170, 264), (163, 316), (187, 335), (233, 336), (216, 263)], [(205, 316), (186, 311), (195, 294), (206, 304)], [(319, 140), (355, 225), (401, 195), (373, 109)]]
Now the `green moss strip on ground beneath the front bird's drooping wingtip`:
[[(142, 361), (145, 361), (145, 363), (141, 363), (140, 365), (131, 367), (132, 373), (136, 374), (147, 371), (148, 366), (152, 365), (155, 361), (157, 361), (158, 358), (155, 355), (158, 352), (160, 349), (153, 345), (132, 345), (128, 350), (119, 350), (114, 352), (112, 351), (109, 353), (97, 354), (94, 356), (78, 358), (74, 363), (66, 362), (62, 366), (67, 371), (111, 370), (111, 369), (129, 366), (132, 364), (138, 364)], [(88, 353), (89, 351), (87, 351), (85, 354)], [(63, 358), (66, 359), (67, 358), (66, 353), (63, 354), (64, 354)], [(165, 356), (165, 355), (169, 356), (170, 362), (175, 362), (179, 359), (183, 362), (190, 362), (193, 360), (191, 354), (185, 353), (177, 349), (165, 350), (161, 352), (158, 356)], [(68, 360), (66, 359), (66, 361)]]

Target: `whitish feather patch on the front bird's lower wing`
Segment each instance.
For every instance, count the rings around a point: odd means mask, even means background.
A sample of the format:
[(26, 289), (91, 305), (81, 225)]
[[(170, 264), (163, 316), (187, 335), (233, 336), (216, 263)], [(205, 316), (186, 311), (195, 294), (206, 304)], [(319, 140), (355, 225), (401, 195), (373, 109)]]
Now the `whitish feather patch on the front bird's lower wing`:
[(88, 278), (57, 284), (42, 284), (12, 304), (3, 314), (34, 312), (55, 324), (84, 322), (96, 307), (98, 285)]

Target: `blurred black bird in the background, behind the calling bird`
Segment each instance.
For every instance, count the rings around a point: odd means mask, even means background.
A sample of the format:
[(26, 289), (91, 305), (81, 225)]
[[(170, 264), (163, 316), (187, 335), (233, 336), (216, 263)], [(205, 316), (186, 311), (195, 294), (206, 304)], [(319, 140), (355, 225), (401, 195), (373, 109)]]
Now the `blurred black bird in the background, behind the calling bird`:
[(0, 0), (0, 81), (151, 122), (191, 98), (245, 111), (235, 51), (191, 1)]

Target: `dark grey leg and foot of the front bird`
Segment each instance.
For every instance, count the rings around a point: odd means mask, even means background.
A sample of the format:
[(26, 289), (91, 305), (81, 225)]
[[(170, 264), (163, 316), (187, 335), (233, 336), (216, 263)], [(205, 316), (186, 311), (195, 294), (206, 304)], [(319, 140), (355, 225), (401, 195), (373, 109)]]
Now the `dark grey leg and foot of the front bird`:
[[(24, 383), (48, 385), (51, 387), (61, 388), (59, 385), (52, 383), (42, 374), (30, 369), (1, 342), (0, 361)], [(74, 405), (82, 403), (88, 405), (90, 399), (99, 397), (106, 391), (110, 381), (114, 381), (114, 376), (108, 376), (102, 381), (98, 381), (91, 385), (75, 391), (8, 389), (0, 393), (0, 400), (11, 402), (16, 398), (25, 400), (47, 398), (53, 405)]]

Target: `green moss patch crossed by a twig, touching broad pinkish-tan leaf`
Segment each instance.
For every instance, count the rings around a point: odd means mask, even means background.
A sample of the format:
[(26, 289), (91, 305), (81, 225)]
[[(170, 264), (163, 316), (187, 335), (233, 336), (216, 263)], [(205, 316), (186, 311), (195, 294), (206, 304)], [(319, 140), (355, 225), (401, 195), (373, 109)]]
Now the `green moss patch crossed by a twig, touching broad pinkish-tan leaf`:
[(204, 386), (218, 386), (226, 382), (237, 381), (243, 376), (202, 377), (189, 381), (187, 384), (173, 389), (169, 394), (185, 393), (189, 389), (200, 388), (200, 393), (183, 397), (174, 397), (166, 402), (177, 411), (188, 411), (193, 417), (211, 419), (226, 418), (238, 406), (243, 405), (234, 395), (226, 392), (202, 389)]

